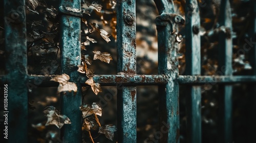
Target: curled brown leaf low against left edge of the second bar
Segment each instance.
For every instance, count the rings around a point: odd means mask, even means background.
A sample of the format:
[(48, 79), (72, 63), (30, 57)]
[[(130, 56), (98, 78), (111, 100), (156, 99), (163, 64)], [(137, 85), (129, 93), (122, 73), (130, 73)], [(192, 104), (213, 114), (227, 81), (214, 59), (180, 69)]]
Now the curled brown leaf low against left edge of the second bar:
[(46, 126), (55, 125), (60, 129), (64, 124), (71, 124), (68, 116), (60, 115), (59, 111), (53, 106), (46, 107), (44, 113), (48, 117)]

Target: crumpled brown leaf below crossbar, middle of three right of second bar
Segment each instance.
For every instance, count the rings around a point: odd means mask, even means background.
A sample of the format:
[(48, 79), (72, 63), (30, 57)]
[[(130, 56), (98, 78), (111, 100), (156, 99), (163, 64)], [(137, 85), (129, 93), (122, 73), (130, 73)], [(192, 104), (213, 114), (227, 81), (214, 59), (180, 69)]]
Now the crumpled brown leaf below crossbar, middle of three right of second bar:
[(101, 109), (100, 105), (95, 102), (92, 104), (92, 106), (91, 105), (80, 106), (80, 110), (82, 111), (83, 117), (87, 117), (92, 114), (96, 114), (99, 116), (102, 115), (102, 109)]

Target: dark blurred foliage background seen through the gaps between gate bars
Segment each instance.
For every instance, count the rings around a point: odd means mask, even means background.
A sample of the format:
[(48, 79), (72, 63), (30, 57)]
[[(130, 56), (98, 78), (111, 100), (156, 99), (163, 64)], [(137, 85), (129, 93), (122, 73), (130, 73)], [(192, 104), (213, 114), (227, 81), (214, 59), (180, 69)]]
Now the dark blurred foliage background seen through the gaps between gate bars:
[[(59, 75), (59, 22), (58, 6), (59, 1), (38, 1), (41, 3), (35, 10), (27, 2), (27, 39), (28, 39), (28, 73), (35, 75)], [(92, 3), (93, 1), (88, 1)], [(83, 55), (93, 57), (93, 51), (108, 52), (112, 55), (113, 61), (108, 63), (94, 60), (92, 65), (88, 65), (95, 71), (94, 74), (117, 74), (116, 57), (116, 12), (115, 1), (98, 0), (102, 6), (100, 11), (93, 7), (83, 6), (87, 11), (83, 18), (89, 22), (95, 22), (100, 29), (104, 29), (111, 36), (110, 42), (106, 41), (99, 33), (88, 35), (86, 23), (81, 22), (81, 42), (88, 40), (86, 36), (97, 40), (96, 43), (86, 42), (86, 50), (81, 50)], [(218, 15), (220, 0), (198, 0), (205, 3), (200, 9), (200, 35), (201, 35), (201, 75), (216, 75), (218, 68)], [(3, 1), (1, 1), (0, 16), (3, 18)], [(178, 14), (185, 16), (185, 1), (174, 1)], [(233, 75), (251, 74), (249, 63), (249, 52), (243, 51), (246, 39), (252, 38), (251, 28), (253, 9), (252, 1), (234, 0), (230, 1), (232, 12), (232, 37), (233, 55), (232, 66)], [(89, 15), (90, 14), (90, 15)], [(157, 31), (155, 18), (159, 15), (153, 0), (136, 1), (136, 30), (137, 30), (137, 74), (158, 74), (157, 56)], [(91, 27), (90, 27), (91, 28)], [(179, 27), (179, 33), (183, 41), (179, 44), (179, 74), (185, 71), (185, 25)], [(5, 50), (4, 50), (4, 20), (0, 21), (0, 60), (2, 61), (0, 75), (5, 75)], [(255, 55), (254, 55), (255, 56)], [(74, 57), (75, 58), (75, 57)], [(44, 67), (53, 68), (44, 70)], [(250, 132), (250, 123), (247, 122), (250, 114), (250, 85), (233, 85), (233, 139), (234, 142), (251, 142), (247, 134)], [(102, 92), (95, 96), (88, 87), (83, 87), (83, 103), (93, 102), (102, 105), (102, 116), (99, 117), (102, 125), (117, 125), (116, 87), (104, 86)], [(186, 86), (180, 86), (180, 142), (186, 142), (186, 114), (185, 114), (185, 91)], [(59, 129), (55, 126), (44, 126), (47, 117), (42, 111), (47, 106), (55, 106), (59, 110), (59, 95), (57, 88), (38, 87), (29, 92), (29, 141), (30, 142), (61, 142)], [(158, 130), (158, 88), (157, 86), (137, 87), (137, 142), (144, 142), (145, 139), (154, 138), (154, 133)], [(202, 142), (217, 142), (217, 120), (218, 120), (218, 85), (202, 86)], [(72, 103), (71, 103), (72, 104)], [(249, 105), (249, 106), (248, 106)], [(1, 108), (2, 109), (2, 108)], [(118, 131), (117, 131), (118, 132)], [(116, 142), (106, 139), (103, 135), (92, 134), (95, 142)], [(83, 141), (90, 142), (88, 133), (83, 134)]]

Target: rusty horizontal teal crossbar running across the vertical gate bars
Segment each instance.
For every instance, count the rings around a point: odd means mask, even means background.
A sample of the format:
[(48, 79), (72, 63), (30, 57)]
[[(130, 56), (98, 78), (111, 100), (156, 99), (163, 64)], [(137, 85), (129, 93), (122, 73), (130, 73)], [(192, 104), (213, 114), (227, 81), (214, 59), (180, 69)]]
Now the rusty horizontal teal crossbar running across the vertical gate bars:
[[(58, 86), (58, 83), (50, 81), (53, 77), (29, 75), (27, 82), (39, 87), (53, 87)], [(0, 81), (5, 82), (7, 76), (0, 76)], [(86, 85), (85, 82), (88, 78), (80, 75), (77, 80), (80, 84)], [(165, 75), (94, 75), (96, 83), (102, 86), (116, 86), (118, 83), (124, 85), (162, 85), (167, 83), (168, 77)], [(212, 84), (236, 84), (236, 83), (256, 83), (256, 76), (179, 76), (178, 82), (180, 84), (200, 85), (205, 83)]]

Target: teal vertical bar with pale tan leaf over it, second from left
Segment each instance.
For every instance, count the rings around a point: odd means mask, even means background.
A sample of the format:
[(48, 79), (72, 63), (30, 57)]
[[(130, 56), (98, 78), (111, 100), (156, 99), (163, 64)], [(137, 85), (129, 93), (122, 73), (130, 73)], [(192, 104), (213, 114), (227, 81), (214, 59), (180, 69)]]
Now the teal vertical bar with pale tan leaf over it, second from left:
[[(73, 0), (62, 0), (61, 8), (71, 8), (74, 11), (81, 10), (81, 2)], [(80, 64), (80, 17), (73, 15), (61, 15), (60, 18), (60, 54), (61, 73), (68, 74), (70, 81), (76, 83), (78, 91), (61, 94), (61, 113), (67, 115), (72, 124), (64, 125), (61, 129), (62, 141), (81, 142), (81, 85), (78, 79), (77, 65)]]

